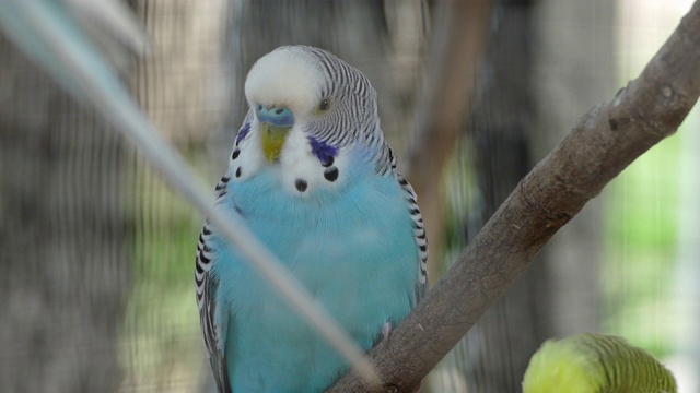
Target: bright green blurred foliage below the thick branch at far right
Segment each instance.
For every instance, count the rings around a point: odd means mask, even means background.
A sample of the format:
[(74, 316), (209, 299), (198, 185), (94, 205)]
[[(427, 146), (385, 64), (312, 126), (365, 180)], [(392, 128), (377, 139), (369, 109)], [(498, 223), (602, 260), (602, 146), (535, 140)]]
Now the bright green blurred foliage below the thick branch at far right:
[(657, 356), (670, 352), (674, 338), (679, 154), (679, 138), (661, 142), (615, 179), (604, 196), (603, 331)]

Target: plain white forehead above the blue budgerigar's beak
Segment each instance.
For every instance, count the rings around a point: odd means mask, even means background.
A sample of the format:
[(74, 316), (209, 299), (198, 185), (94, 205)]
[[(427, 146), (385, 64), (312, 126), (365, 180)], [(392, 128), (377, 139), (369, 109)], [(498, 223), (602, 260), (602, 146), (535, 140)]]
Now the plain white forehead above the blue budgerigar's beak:
[(303, 48), (284, 47), (261, 57), (245, 80), (250, 106), (284, 106), (295, 115), (312, 111), (322, 99), (318, 58)]

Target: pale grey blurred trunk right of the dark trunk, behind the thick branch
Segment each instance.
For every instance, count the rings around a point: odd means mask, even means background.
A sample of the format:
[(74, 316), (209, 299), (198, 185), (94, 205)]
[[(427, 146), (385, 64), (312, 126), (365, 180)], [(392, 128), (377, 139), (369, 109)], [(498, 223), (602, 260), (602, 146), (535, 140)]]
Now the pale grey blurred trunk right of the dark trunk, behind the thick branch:
[[(610, 37), (619, 34), (614, 26), (623, 22), (616, 14), (619, 9), (618, 2), (608, 0), (537, 1), (538, 22), (533, 25), (537, 116), (532, 135), (537, 159), (565, 136), (574, 119), (617, 91), (614, 55), (618, 43)], [(653, 55), (655, 48), (651, 49), (640, 66)], [(537, 257), (550, 276), (544, 290), (556, 294), (546, 299), (556, 317), (551, 320), (553, 336), (600, 329), (598, 282), (606, 194), (588, 202)]]

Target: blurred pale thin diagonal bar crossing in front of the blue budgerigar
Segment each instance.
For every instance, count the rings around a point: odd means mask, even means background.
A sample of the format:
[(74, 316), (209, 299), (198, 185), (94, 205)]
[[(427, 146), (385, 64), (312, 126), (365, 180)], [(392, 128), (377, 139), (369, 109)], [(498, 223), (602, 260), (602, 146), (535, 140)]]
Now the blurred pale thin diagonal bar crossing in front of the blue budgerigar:
[[(97, 0), (94, 0), (97, 1)], [(74, 23), (66, 3), (56, 0), (0, 0), (0, 28), (69, 93), (95, 108), (139, 148), (164, 180), (209, 217), (224, 237), (371, 385), (378, 377), (363, 352), (332, 317), (247, 228), (215, 214), (179, 153), (158, 132), (129, 95), (112, 67)], [(116, 25), (115, 25), (116, 26)], [(113, 26), (114, 27), (114, 26)], [(125, 34), (133, 37), (135, 34)]]

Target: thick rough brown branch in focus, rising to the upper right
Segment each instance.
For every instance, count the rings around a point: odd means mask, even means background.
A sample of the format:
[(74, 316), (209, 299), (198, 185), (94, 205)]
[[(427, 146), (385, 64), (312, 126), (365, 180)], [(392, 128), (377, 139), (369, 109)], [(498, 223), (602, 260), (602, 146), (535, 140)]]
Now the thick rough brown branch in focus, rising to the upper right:
[(699, 1), (642, 74), (579, 120), (389, 340), (372, 349), (384, 385), (372, 390), (351, 371), (330, 392), (412, 391), (559, 228), (677, 130), (700, 94)]

